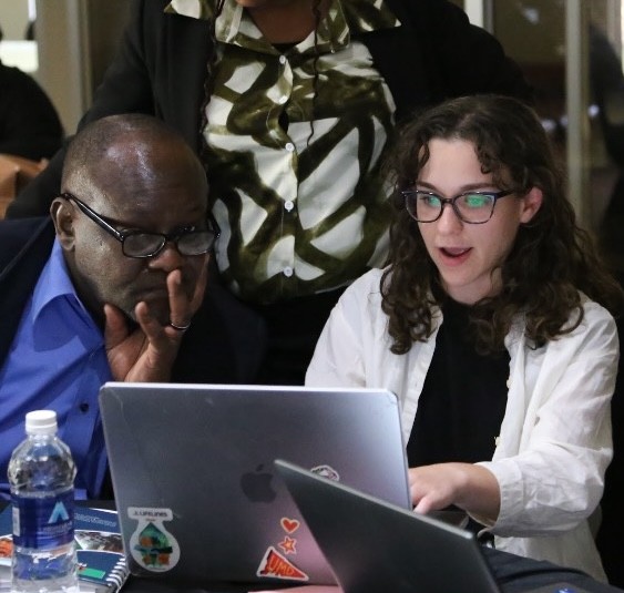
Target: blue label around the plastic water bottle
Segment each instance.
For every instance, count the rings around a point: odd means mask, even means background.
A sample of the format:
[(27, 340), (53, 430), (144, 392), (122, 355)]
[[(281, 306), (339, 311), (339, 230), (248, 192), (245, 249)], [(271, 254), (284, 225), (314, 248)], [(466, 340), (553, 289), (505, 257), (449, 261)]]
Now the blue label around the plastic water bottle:
[(73, 540), (73, 489), (55, 497), (12, 497), (13, 543), (50, 549)]

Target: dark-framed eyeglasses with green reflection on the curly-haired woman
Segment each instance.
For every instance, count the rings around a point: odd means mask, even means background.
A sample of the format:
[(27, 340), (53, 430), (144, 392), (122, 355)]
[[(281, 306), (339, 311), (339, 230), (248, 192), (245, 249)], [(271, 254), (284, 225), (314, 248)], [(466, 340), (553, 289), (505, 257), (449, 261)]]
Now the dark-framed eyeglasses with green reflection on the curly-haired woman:
[(433, 192), (406, 190), (401, 194), (406, 200), (408, 214), (419, 223), (433, 223), (440, 216), (444, 205), (450, 204), (458, 218), (469, 224), (487, 223), (494, 213), (497, 202), (513, 192), (464, 192), (454, 197), (441, 197)]

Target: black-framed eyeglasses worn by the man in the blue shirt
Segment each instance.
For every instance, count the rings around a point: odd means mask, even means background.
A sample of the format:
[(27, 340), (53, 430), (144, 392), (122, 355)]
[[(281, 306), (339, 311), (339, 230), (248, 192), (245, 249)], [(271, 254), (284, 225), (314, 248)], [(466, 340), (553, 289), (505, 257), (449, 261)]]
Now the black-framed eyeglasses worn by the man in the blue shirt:
[[(123, 255), (127, 257), (155, 257), (171, 242), (182, 255), (202, 255), (209, 252), (218, 237), (214, 228), (216, 223), (207, 222), (209, 228), (186, 226), (175, 233), (147, 233), (145, 231), (117, 231), (112, 221), (109, 222), (91, 209), (84, 202), (73, 194), (65, 192), (62, 198), (73, 202), (89, 218), (102, 227), (121, 243)], [(117, 223), (119, 224), (119, 223)]]

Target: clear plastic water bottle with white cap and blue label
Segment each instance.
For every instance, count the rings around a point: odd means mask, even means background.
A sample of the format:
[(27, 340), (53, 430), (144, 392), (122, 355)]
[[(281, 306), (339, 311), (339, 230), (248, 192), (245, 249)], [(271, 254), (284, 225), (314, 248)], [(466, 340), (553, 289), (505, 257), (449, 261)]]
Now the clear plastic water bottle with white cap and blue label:
[(25, 432), (8, 471), (13, 509), (12, 591), (76, 593), (75, 466), (69, 447), (57, 437), (57, 412), (27, 413)]

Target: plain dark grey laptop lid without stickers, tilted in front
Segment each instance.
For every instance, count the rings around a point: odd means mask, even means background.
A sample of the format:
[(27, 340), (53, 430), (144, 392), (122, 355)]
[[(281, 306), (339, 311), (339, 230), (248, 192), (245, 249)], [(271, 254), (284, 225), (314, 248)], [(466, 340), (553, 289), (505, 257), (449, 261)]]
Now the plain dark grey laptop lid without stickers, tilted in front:
[(277, 460), (345, 593), (500, 593), (474, 535)]

